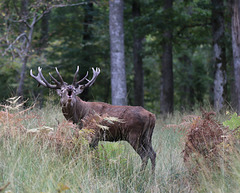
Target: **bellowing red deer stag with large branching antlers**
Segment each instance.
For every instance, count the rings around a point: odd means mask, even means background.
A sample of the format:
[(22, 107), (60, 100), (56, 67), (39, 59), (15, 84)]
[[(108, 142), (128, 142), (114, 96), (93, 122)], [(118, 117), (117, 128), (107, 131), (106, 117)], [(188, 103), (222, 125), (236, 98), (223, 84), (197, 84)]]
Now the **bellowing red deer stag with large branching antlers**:
[[(155, 127), (155, 115), (138, 106), (114, 106), (103, 102), (82, 101), (77, 95), (81, 94), (85, 88), (92, 86), (100, 73), (99, 68), (96, 68), (96, 70), (92, 68), (92, 70), (93, 77), (91, 80), (87, 79), (87, 72), (83, 79), (77, 81), (77, 75), (79, 71), (79, 67), (77, 67), (73, 78), (73, 83), (71, 85), (68, 85), (63, 81), (63, 78), (58, 72), (57, 68), (56, 72), (60, 81), (55, 79), (49, 73), (54, 84), (48, 83), (48, 81), (44, 78), (42, 69), (40, 67), (38, 67), (37, 76), (33, 75), (32, 70), (30, 70), (30, 75), (39, 83), (39, 85), (56, 89), (58, 95), (61, 97), (60, 103), (63, 115), (67, 120), (73, 121), (73, 123), (80, 124), (84, 117), (87, 117), (92, 113), (97, 113), (99, 115), (108, 114), (109, 116), (117, 117), (118, 119), (123, 120), (122, 123), (114, 123), (110, 125), (109, 129), (104, 135), (104, 139), (103, 137), (99, 138), (97, 142), (94, 142), (94, 144), (90, 145), (92, 147), (97, 146), (99, 140), (125, 140), (130, 143), (130, 145), (141, 157), (142, 169), (145, 169), (150, 158), (152, 162), (152, 170), (154, 172), (156, 153), (152, 148), (152, 133)], [(80, 84), (83, 81), (87, 83)]]

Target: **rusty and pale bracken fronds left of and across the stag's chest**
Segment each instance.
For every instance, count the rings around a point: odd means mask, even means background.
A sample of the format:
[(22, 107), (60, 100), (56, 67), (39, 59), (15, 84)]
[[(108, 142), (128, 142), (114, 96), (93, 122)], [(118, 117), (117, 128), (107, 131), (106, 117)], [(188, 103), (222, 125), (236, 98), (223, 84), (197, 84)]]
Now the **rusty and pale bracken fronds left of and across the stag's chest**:
[[(57, 150), (75, 150), (86, 148), (88, 144), (99, 140), (101, 133), (108, 130), (108, 126), (115, 122), (121, 122), (116, 117), (110, 117), (107, 114), (102, 116), (97, 113), (86, 117), (82, 121), (82, 128), (67, 120), (58, 123), (57, 127), (50, 127), (44, 122), (44, 118), (31, 112), (34, 106), (21, 110), (25, 102), (19, 103), (20, 97), (13, 97), (7, 100), (8, 104), (1, 105), (0, 126), (2, 131), (0, 136), (11, 138), (34, 137), (42, 143), (48, 143), (49, 146)], [(38, 120), (38, 127), (27, 129), (25, 122), (31, 119)]]

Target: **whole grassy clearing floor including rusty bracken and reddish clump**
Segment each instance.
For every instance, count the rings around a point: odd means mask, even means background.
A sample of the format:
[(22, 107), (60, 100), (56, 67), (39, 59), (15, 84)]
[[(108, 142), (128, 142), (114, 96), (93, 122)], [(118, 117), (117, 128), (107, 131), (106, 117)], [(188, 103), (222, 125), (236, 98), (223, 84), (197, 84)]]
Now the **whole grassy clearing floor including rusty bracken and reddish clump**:
[[(99, 158), (95, 158), (92, 151), (85, 151), (110, 124), (121, 120), (107, 114), (94, 114), (84, 119), (83, 128), (79, 130), (78, 125), (66, 120), (56, 122), (52, 112), (57, 109), (31, 107), (23, 110), (16, 99), (12, 98), (0, 109), (0, 137), (4, 146), (0, 167), (5, 179), (0, 190), (96, 192), (100, 188), (105, 192), (197, 192), (201, 189), (210, 192), (208, 190), (218, 190), (222, 184), (229, 187), (232, 182), (233, 188), (226, 192), (234, 192), (230, 190), (238, 185), (240, 154), (231, 144), (234, 136), (215, 120), (214, 113), (178, 116), (177, 119), (174, 116), (171, 122), (179, 124), (156, 126), (153, 143), (158, 152), (157, 172), (156, 181), (151, 182), (148, 173), (139, 173), (140, 164), (136, 167), (136, 163), (140, 163), (140, 159), (137, 160), (129, 145), (104, 143), (104, 147), (99, 147)], [(230, 159), (232, 153), (236, 159)], [(223, 165), (225, 173), (211, 179), (208, 176), (219, 174), (212, 167), (221, 167), (219, 160), (228, 163)], [(228, 172), (225, 168), (232, 169)], [(205, 181), (190, 182), (192, 179), (187, 171), (198, 175), (202, 170), (206, 173)], [(226, 183), (225, 176), (229, 178)]]

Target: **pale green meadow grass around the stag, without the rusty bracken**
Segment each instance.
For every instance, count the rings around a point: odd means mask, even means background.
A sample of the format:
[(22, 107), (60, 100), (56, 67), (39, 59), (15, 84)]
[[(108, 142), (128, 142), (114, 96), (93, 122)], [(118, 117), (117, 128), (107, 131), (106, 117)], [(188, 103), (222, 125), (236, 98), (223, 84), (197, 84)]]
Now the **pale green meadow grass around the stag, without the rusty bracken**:
[[(56, 127), (64, 120), (61, 110), (53, 106), (34, 108), (24, 116), (22, 123), (26, 129), (39, 125)], [(78, 154), (66, 154), (49, 147), (47, 141), (19, 135), (0, 138), (0, 187), (10, 182), (5, 191), (237, 192), (240, 155), (233, 158), (231, 172), (225, 171), (223, 163), (219, 173), (200, 172), (198, 183), (189, 176), (181, 153), (183, 134), (164, 128), (166, 124), (180, 123), (182, 117), (176, 112), (157, 121), (153, 134), (157, 153), (155, 180), (151, 178), (150, 162), (146, 171), (140, 172), (141, 160), (127, 142), (101, 142), (98, 151), (86, 148)], [(6, 129), (0, 124), (0, 134)]]

